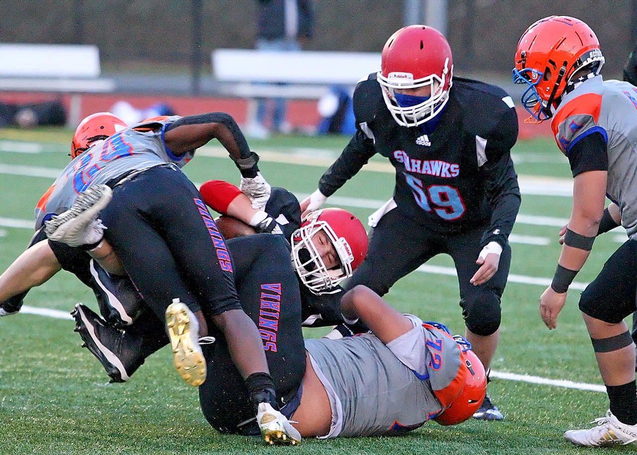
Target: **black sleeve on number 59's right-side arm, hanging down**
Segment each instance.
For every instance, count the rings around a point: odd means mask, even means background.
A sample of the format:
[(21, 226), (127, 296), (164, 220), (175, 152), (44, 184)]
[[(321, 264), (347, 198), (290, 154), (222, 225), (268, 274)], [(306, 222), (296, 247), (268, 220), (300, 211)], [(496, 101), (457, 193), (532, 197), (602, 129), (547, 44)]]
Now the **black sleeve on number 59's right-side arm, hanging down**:
[(493, 212), (489, 227), (482, 236), (482, 247), (489, 242), (505, 247), (520, 210), (520, 187), (510, 153), (518, 133), (515, 110), (508, 110), (495, 131), (497, 133), (487, 142), (489, 159), (483, 164), (487, 198)]

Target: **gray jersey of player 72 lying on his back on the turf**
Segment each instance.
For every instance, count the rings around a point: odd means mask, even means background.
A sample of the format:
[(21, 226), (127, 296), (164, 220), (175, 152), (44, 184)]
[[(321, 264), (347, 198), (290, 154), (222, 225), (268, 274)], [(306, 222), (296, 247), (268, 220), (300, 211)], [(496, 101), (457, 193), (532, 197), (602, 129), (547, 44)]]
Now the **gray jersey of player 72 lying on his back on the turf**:
[[(438, 377), (446, 375), (452, 382), (460, 366), (460, 350), (455, 346), (438, 350), (440, 331), (420, 325), (422, 321), (415, 317), (412, 321), (414, 329), (389, 343), (390, 347), (368, 334), (305, 341), (332, 408), (331, 429), (324, 437), (396, 435), (415, 430), (440, 413), (431, 372), (435, 368)], [(456, 344), (453, 338), (444, 338)], [(432, 359), (431, 347), (434, 356), (441, 353), (442, 357)], [(401, 352), (404, 349), (418, 352)], [(420, 372), (408, 367), (414, 359), (420, 359)]]

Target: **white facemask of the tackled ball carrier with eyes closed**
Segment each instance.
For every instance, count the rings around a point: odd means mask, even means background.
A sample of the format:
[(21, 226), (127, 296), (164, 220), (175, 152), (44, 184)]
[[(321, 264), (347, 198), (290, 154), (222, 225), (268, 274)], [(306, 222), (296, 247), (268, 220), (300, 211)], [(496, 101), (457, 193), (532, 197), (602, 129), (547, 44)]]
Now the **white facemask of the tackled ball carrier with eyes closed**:
[[(319, 231), (326, 233), (338, 256), (338, 265), (328, 269), (320, 256), (313, 236)], [(339, 238), (325, 221), (313, 220), (292, 234), (292, 266), (299, 278), (314, 294), (331, 291), (345, 278), (352, 276), (354, 256), (345, 238)]]

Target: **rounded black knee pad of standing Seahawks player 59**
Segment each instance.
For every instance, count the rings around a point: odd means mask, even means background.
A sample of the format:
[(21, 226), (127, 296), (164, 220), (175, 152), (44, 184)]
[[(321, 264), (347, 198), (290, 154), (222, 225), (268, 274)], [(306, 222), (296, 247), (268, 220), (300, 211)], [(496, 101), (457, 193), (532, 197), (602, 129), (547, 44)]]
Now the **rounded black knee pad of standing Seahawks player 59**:
[(472, 297), (462, 299), (460, 306), (464, 324), (471, 333), (489, 336), (499, 328), (502, 315), (500, 298), (493, 292), (477, 292)]

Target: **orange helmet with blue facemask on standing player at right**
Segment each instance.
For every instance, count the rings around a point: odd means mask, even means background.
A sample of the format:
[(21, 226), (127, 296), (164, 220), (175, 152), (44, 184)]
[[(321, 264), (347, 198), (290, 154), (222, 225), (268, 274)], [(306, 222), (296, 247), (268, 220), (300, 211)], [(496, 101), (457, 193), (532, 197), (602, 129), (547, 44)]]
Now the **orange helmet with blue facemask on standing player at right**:
[[(604, 64), (599, 41), (588, 25), (568, 16), (550, 16), (529, 27), (517, 45), (513, 82), (526, 83), (522, 105), (538, 120), (552, 117), (559, 99), (582, 68), (598, 75)], [(539, 103), (539, 104), (538, 104)]]

